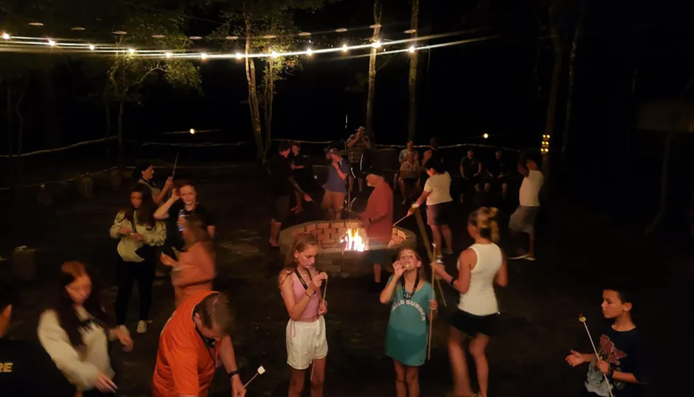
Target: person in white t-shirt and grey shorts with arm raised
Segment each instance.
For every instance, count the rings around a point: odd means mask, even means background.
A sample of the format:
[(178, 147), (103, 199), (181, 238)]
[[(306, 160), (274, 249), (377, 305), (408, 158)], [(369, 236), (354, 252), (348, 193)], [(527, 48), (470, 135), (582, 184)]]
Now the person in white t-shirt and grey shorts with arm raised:
[(535, 220), (540, 211), (540, 189), (545, 182), (545, 177), (537, 169), (537, 163), (533, 159), (525, 159), (518, 163), (518, 173), (523, 175), (521, 190), (518, 192), (520, 205), (509, 219), (509, 229), (514, 233), (524, 232), (530, 237), (530, 245), (527, 252), (518, 247), (518, 256), (509, 259), (535, 260)]

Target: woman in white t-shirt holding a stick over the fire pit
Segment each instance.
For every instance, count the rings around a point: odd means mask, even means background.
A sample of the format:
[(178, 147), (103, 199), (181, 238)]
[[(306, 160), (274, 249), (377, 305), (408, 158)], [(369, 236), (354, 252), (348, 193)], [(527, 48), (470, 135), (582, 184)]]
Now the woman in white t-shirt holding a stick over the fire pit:
[(427, 224), (432, 228), (432, 236), (437, 246), (434, 255), (441, 256), (441, 236), (446, 242), (443, 254), (453, 254), (453, 236), (448, 224), (452, 218), (453, 198), (450, 197), (450, 175), (443, 166), (435, 161), (429, 160), (424, 168), (427, 170), (429, 179), (424, 184), (424, 191), (417, 201), (412, 204), (412, 208), (407, 211), (407, 215), (412, 215), (415, 209), (427, 203)]

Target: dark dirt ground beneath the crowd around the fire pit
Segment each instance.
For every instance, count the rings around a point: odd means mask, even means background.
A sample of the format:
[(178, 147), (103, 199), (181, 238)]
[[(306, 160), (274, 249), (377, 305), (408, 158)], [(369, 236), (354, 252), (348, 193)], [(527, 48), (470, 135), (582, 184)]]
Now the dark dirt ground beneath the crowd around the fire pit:
[[(217, 217), (219, 278), (215, 284), (229, 294), (237, 308), (233, 340), (242, 378), (251, 378), (260, 365), (266, 369), (251, 384), (248, 396), (286, 396), (287, 312), (277, 289), (282, 258), (267, 244), (271, 209), (266, 197), (268, 181), (253, 171), (224, 179), (196, 175), (196, 179), (201, 201)], [(357, 200), (355, 208), (364, 206), (365, 197)], [(396, 219), (405, 213), (405, 206), (399, 202), (396, 195)], [(126, 203), (123, 190), (98, 192), (92, 200), (60, 208), (6, 207), (6, 228), (0, 242), (3, 256), (8, 256), (13, 247), (27, 245), (38, 250), (40, 269), (40, 281), (20, 285), (22, 297), (13, 310), (11, 337), (35, 339), (37, 316), (51, 299), (56, 269), (66, 259), (77, 258), (92, 265), (110, 286), (108, 296), (115, 298), (115, 240), (109, 239), (108, 228), (119, 207)], [(322, 217), (317, 205), (306, 207), (308, 211), (292, 218), (291, 223)], [(506, 218), (513, 207), (502, 207)], [(456, 252), (471, 243), (464, 228), (467, 211), (459, 206), (457, 224), (452, 225)], [(414, 219), (400, 225), (417, 231)], [(636, 306), (636, 319), (654, 351), (650, 395), (686, 395), (679, 387), (686, 382), (667, 381), (684, 376), (686, 366), (663, 364), (678, 360), (675, 357), (680, 357), (684, 348), (660, 346), (666, 342), (665, 337), (673, 342), (687, 340), (686, 320), (679, 313), (691, 301), (686, 285), (693, 272), (691, 261), (680, 251), (679, 247), (645, 240), (634, 231), (620, 229), (587, 209), (561, 203), (546, 206), (539, 227), (538, 261), (512, 261), (509, 285), (498, 289), (502, 321), (488, 348), (489, 395), (578, 396), (586, 368), (572, 369), (564, 357), (569, 349), (591, 350), (577, 318), (584, 313), (593, 337), (600, 335), (604, 324), (600, 316), (601, 289), (614, 279), (632, 281), (645, 298)], [(455, 258), (448, 257), (446, 265), (453, 269)], [(389, 308), (378, 302), (377, 295), (366, 292), (368, 282), (330, 280), (326, 396), (394, 396), (393, 364), (384, 356)], [(450, 287), (443, 288), (448, 307), (434, 321), (432, 358), (421, 368), (422, 396), (444, 396), (451, 388), (446, 313), (455, 310), (457, 297)], [(173, 291), (167, 280), (155, 286), (153, 324), (144, 335), (134, 333), (136, 303), (137, 297), (133, 297), (128, 324), (135, 349), (132, 353), (114, 353), (120, 396), (149, 395), (158, 336), (173, 310)], [(665, 319), (667, 323), (663, 324)], [(229, 396), (226, 377), (218, 375), (212, 396)]]

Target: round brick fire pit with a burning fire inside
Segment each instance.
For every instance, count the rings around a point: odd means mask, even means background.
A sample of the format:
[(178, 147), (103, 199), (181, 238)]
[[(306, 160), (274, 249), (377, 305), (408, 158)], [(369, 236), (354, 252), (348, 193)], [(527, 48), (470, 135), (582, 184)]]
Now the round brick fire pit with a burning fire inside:
[[(364, 255), (364, 252), (369, 250), (369, 242), (359, 221), (319, 220), (288, 227), (280, 232), (280, 252), (286, 255), (294, 244), (294, 238), (301, 233), (311, 233), (318, 238), (321, 252), (316, 268), (321, 272), (341, 277), (371, 274), (371, 266), (366, 263)], [(393, 254), (403, 246), (415, 247), (416, 236), (407, 229), (393, 227), (388, 246)]]

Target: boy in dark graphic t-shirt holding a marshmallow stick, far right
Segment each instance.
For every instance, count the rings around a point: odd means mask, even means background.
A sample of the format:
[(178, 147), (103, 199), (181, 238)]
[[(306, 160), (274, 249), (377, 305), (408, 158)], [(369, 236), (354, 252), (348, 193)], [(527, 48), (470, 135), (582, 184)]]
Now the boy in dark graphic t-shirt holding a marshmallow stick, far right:
[[(611, 287), (602, 291), (602, 315), (612, 324), (600, 335), (598, 357), (595, 353), (571, 351), (566, 362), (577, 367), (589, 362), (584, 396), (638, 397), (648, 383), (648, 370), (641, 335), (632, 321), (632, 297), (625, 288)], [(605, 381), (607, 376), (607, 382)]]

